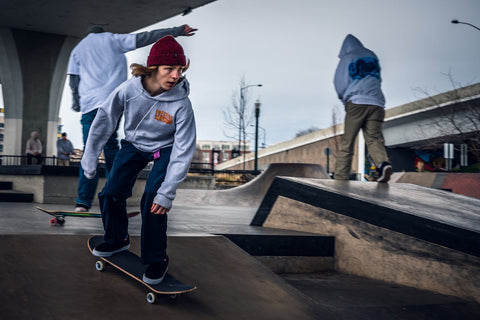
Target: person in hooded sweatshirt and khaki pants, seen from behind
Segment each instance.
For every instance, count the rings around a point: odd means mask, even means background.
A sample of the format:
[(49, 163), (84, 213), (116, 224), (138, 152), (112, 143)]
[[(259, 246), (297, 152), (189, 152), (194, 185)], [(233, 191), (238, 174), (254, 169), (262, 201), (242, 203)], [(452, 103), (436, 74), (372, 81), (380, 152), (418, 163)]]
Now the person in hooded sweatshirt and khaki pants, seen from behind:
[(338, 55), (334, 85), (345, 105), (345, 129), (335, 163), (335, 179), (348, 180), (355, 138), (363, 130), (368, 152), (378, 169), (378, 182), (388, 182), (392, 173), (385, 150), (382, 125), (385, 118), (380, 64), (375, 53), (349, 34)]

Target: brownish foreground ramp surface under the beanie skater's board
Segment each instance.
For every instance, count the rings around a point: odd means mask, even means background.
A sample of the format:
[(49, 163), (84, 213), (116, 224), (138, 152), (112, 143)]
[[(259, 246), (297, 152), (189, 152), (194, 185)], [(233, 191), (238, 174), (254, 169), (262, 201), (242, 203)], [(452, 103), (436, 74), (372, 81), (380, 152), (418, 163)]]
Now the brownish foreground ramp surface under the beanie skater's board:
[(0, 236), (0, 319), (316, 318), (309, 300), (224, 237), (170, 237), (169, 272), (198, 289), (154, 305), (136, 281), (95, 270), (87, 239)]

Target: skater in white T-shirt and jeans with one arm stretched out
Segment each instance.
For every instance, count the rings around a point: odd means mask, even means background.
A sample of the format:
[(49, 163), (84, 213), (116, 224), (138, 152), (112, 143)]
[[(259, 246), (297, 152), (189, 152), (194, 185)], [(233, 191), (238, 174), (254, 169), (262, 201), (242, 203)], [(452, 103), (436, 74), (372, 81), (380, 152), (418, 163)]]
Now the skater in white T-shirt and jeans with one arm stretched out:
[[(190, 37), (195, 31), (196, 29), (186, 24), (135, 34), (110, 33), (105, 32), (101, 26), (90, 27), (89, 34), (72, 50), (67, 69), (72, 90), (72, 109), (82, 113), (80, 122), (84, 146), (98, 107), (116, 87), (127, 80), (125, 53), (153, 44), (167, 35)], [(115, 130), (104, 146), (107, 178), (117, 152), (118, 139)], [(75, 211), (83, 212), (92, 206), (98, 177), (88, 180), (81, 168), (79, 171)]]

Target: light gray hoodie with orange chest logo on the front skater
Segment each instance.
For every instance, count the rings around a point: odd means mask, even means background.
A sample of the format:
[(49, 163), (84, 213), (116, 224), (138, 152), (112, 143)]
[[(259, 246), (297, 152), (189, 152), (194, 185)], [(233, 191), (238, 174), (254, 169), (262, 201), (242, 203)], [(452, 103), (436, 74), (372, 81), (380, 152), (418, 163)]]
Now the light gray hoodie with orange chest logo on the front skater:
[(82, 158), (85, 176), (91, 179), (95, 175), (98, 156), (123, 113), (125, 140), (137, 149), (153, 154), (172, 147), (165, 181), (153, 200), (170, 209), (195, 151), (195, 117), (189, 93), (187, 79), (155, 97), (145, 91), (141, 77), (121, 84), (98, 109), (90, 128)]

